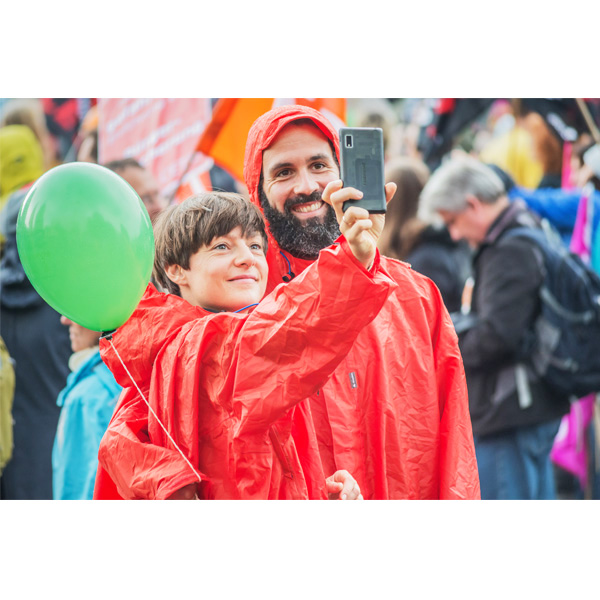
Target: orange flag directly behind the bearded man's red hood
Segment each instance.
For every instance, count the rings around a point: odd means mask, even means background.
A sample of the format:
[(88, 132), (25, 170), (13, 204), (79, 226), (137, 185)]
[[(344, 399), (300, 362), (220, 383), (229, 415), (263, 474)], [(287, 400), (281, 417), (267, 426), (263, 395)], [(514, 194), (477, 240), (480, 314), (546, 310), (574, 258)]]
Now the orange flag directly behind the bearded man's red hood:
[(336, 128), (346, 122), (345, 98), (221, 98), (196, 150), (243, 182), (244, 151), (252, 123), (272, 108), (286, 104), (319, 110)]

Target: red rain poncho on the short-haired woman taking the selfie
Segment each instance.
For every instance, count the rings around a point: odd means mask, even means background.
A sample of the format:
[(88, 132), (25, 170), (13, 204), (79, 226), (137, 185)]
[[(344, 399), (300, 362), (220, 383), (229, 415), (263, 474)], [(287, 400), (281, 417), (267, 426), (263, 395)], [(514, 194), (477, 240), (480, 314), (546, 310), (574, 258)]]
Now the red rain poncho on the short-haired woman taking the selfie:
[[(395, 287), (378, 258), (366, 271), (340, 238), (250, 314), (210, 313), (150, 284), (113, 343), (197, 470), (201, 498), (326, 498), (302, 400), (330, 377)], [(110, 343), (102, 340), (100, 351), (127, 389), (100, 445), (94, 497), (162, 499), (198, 481)]]

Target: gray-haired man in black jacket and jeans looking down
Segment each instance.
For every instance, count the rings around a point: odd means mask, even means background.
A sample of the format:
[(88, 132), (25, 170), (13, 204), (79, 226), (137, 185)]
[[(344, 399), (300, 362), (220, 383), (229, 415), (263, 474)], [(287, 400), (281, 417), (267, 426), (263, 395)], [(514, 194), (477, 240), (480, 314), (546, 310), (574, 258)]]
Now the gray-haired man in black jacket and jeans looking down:
[(535, 374), (524, 355), (540, 313), (544, 266), (540, 250), (516, 227), (540, 227), (521, 201), (511, 202), (500, 178), (476, 159), (443, 164), (421, 195), (453, 239), (476, 250), (471, 314), (460, 336), (482, 499), (551, 499), (555, 486), (550, 450), (562, 397)]

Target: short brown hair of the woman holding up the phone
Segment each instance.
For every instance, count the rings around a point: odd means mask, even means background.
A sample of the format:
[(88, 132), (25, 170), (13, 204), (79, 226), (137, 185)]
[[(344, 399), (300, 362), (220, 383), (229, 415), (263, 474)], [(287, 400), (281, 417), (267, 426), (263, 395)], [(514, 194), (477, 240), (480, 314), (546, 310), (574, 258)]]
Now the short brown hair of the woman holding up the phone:
[(239, 194), (204, 192), (181, 204), (169, 206), (154, 223), (154, 280), (171, 294), (181, 296), (166, 268), (179, 265), (190, 268), (190, 257), (205, 245), (236, 227), (242, 235), (260, 234), (267, 252), (267, 233), (260, 210)]

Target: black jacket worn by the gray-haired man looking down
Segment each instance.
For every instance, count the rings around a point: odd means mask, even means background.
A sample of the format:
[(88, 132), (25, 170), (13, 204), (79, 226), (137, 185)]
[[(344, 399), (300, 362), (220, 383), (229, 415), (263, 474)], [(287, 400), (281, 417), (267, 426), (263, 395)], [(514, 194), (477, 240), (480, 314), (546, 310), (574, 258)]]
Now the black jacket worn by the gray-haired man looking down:
[(549, 389), (519, 353), (540, 313), (543, 280), (543, 258), (533, 243), (502, 239), (522, 226), (538, 227), (539, 219), (515, 201), (492, 224), (474, 256), (477, 322), (461, 335), (460, 349), (475, 435), (543, 423), (569, 410), (569, 399)]

